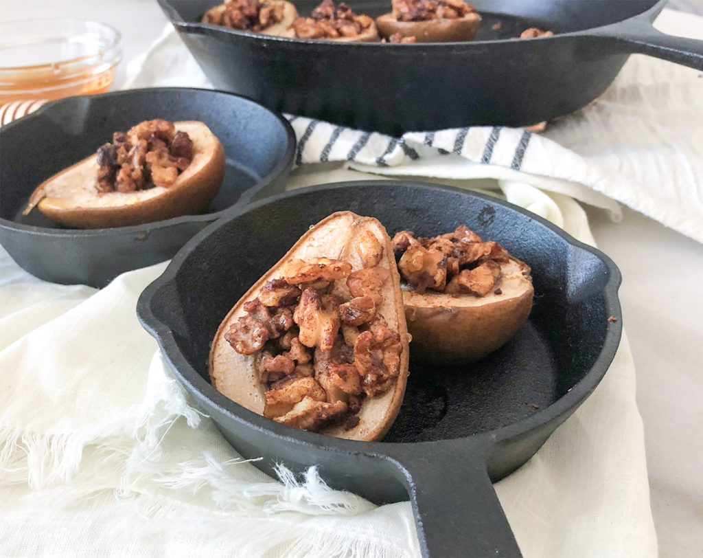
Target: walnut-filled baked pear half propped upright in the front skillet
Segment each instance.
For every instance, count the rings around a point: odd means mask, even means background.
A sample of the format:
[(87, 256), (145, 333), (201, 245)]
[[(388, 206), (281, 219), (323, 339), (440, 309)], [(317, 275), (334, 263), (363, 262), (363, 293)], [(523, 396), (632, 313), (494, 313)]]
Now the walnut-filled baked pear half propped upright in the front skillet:
[(342, 211), (311, 227), (221, 322), (209, 376), (281, 424), (380, 440), (408, 376), (400, 277), (382, 224)]

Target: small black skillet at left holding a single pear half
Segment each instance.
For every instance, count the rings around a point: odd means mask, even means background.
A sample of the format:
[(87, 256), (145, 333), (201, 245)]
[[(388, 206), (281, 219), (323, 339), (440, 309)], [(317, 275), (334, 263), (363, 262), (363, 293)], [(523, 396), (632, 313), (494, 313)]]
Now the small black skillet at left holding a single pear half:
[[(37, 208), (32, 191), (142, 120), (202, 120), (226, 156), (224, 182), (201, 215), (134, 227), (66, 229)], [(295, 155), (288, 121), (240, 96), (205, 89), (133, 89), (48, 103), (0, 128), (0, 243), (40, 279), (102, 287), (122, 272), (168, 260), (188, 239), (252, 196), (283, 191)]]

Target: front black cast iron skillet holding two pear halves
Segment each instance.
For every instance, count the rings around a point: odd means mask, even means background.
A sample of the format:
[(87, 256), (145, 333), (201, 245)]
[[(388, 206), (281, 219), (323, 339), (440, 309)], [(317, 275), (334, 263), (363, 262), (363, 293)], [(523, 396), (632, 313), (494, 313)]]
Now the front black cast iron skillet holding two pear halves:
[[(310, 224), (337, 210), (373, 215), (390, 234), (430, 236), (466, 223), (531, 265), (536, 302), (517, 337), (453, 369), (412, 360), (403, 406), (382, 443), (340, 440), (264, 419), (210, 386), (217, 326)], [(138, 301), (188, 391), (245, 457), (271, 471), (320, 467), (331, 486), (374, 502), (410, 495), (425, 555), (520, 554), (491, 486), (515, 471), (593, 391), (621, 335), (613, 262), (496, 198), (416, 182), (313, 186), (231, 211), (183, 247)], [(536, 409), (538, 406), (538, 409)]]

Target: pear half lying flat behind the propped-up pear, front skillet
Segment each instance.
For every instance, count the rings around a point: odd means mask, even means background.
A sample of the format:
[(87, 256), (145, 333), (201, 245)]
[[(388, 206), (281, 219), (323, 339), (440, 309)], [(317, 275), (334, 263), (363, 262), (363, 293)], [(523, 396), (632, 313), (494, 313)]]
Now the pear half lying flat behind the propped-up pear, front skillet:
[(413, 360), (474, 362), (527, 320), (534, 297), (530, 269), (497, 242), (484, 242), (462, 225), (434, 238), (401, 231), (393, 245)]

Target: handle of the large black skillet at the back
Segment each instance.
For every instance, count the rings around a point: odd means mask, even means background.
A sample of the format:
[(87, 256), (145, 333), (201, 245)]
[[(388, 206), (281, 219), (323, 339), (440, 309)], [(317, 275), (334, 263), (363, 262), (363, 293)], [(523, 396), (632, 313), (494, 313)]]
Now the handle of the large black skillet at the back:
[(612, 39), (624, 52), (648, 54), (676, 64), (703, 70), (703, 40), (675, 37), (654, 28), (644, 13), (635, 18), (594, 29), (589, 34)]

